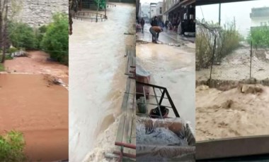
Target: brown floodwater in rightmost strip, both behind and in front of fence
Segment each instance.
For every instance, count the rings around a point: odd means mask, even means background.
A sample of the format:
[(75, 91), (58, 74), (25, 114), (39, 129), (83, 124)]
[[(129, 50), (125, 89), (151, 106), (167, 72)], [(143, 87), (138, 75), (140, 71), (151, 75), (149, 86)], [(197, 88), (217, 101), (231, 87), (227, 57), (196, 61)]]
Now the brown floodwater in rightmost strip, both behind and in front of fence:
[[(264, 80), (269, 76), (269, 52), (253, 49), (252, 77)], [(242, 44), (213, 66), (216, 80), (243, 80), (249, 78), (250, 46)], [(210, 68), (196, 71), (196, 80), (207, 80)], [(261, 86), (261, 85), (260, 85)], [(200, 86), (196, 89), (197, 140), (269, 135), (269, 87), (263, 92), (241, 93), (238, 88), (227, 91)]]

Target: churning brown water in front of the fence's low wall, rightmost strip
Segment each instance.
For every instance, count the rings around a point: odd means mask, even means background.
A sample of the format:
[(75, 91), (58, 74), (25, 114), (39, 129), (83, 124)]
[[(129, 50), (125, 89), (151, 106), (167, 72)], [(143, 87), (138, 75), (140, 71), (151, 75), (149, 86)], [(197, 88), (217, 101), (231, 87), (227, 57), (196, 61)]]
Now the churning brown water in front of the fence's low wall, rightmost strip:
[(269, 135), (269, 87), (263, 92), (222, 92), (200, 86), (196, 89), (196, 137), (198, 141)]

